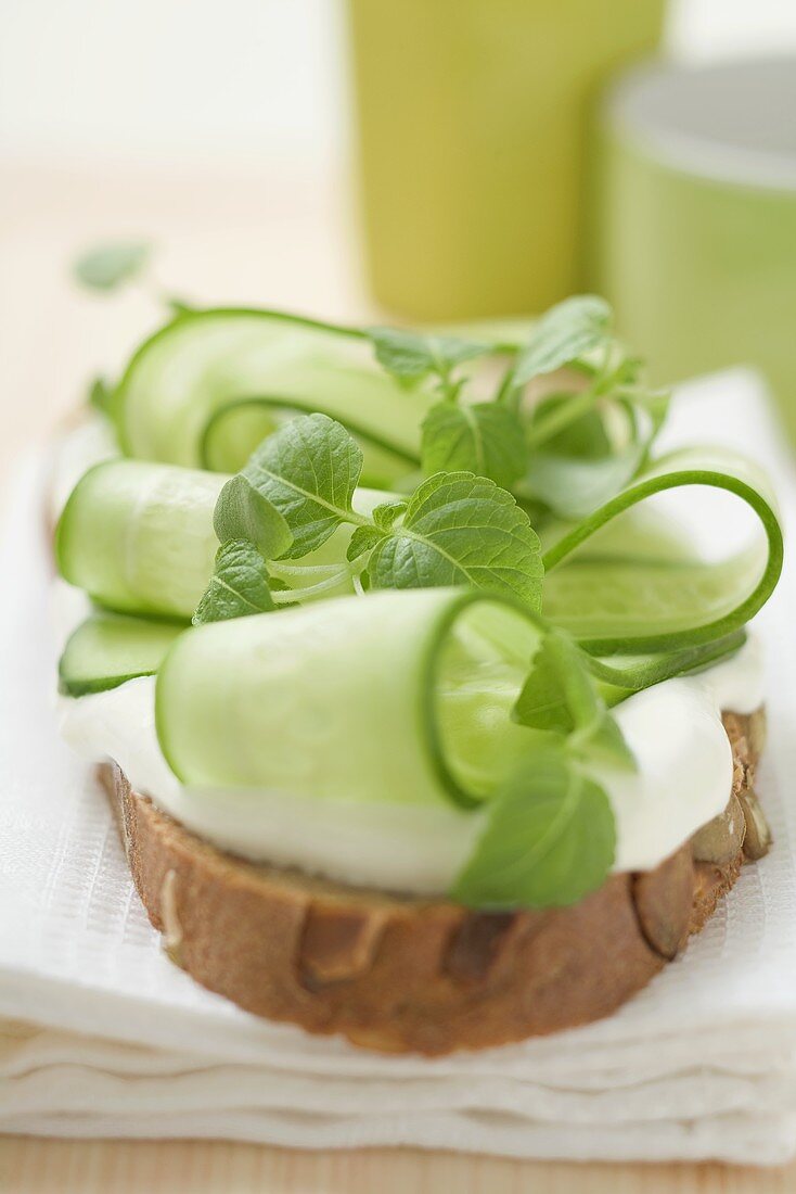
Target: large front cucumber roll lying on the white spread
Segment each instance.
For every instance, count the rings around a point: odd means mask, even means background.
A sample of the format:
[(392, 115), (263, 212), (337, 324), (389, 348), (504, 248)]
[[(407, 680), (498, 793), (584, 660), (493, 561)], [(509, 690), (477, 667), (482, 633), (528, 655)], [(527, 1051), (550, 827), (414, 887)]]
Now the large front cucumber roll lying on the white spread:
[(539, 624), (433, 589), (198, 627), (158, 675), (160, 745), (202, 788), (473, 806), (535, 743), (510, 713)]

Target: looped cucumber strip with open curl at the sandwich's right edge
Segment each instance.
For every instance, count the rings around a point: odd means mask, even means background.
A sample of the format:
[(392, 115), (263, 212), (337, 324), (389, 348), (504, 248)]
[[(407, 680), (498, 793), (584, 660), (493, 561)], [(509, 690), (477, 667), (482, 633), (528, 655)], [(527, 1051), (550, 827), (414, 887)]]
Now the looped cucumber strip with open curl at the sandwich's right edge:
[[(592, 549), (592, 537), (613, 518), (684, 486), (724, 491), (746, 503), (759, 521), (751, 546), (717, 562)], [(782, 562), (782, 529), (765, 479), (733, 453), (687, 449), (655, 461), (548, 548), (544, 613), (597, 656), (691, 647), (741, 629), (771, 596)]]

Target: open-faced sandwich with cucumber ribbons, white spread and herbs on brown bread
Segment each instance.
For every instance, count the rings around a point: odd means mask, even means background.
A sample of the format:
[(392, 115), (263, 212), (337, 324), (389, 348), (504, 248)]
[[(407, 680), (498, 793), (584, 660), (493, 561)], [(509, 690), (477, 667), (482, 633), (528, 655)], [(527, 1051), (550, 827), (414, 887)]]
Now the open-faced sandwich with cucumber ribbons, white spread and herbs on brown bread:
[(766, 851), (775, 506), (656, 453), (601, 300), (524, 343), (181, 309), (93, 398), (62, 727), (199, 983), (377, 1050), (516, 1041), (617, 1008)]

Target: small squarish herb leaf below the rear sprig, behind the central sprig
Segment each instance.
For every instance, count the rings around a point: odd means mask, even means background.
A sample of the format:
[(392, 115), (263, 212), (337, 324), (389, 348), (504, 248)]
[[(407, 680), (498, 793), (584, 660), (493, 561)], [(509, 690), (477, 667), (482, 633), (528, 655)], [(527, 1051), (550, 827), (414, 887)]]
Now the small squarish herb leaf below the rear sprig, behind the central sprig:
[(426, 473), (465, 470), (508, 488), (525, 470), (523, 425), (508, 406), (495, 402), (439, 402), (422, 423)]

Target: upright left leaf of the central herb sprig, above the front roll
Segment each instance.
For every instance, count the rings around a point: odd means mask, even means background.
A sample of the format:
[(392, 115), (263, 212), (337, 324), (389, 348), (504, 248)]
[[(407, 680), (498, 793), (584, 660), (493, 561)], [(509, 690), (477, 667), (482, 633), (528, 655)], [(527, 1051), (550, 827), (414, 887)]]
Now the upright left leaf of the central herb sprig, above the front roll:
[[(362, 449), (341, 424), (326, 414), (291, 419), (253, 453), (240, 476), (282, 516), (292, 542), (270, 559), (296, 560), (325, 543), (341, 522), (362, 522), (351, 509), (362, 473)], [(245, 494), (240, 482), (234, 497)], [(251, 499), (246, 498), (247, 501)], [(236, 527), (220, 497), (222, 525)], [(248, 518), (248, 511), (241, 525)], [(235, 531), (236, 537), (249, 537)]]

